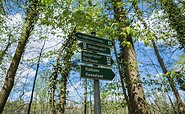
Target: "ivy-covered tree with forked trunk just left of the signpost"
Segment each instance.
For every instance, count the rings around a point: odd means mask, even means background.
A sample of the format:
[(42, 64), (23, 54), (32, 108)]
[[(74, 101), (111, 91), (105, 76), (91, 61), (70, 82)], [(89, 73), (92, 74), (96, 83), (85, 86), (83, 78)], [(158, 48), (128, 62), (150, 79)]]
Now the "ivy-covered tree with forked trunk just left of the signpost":
[[(61, 88), (60, 88), (60, 105), (57, 108), (58, 113), (64, 114), (65, 112), (65, 105), (66, 105), (66, 90), (67, 90), (67, 77), (69, 75), (70, 70), (72, 69), (72, 64), (70, 63), (70, 59), (74, 53), (74, 49), (76, 46), (76, 41), (73, 36), (75, 32), (76, 27), (74, 30), (70, 33), (68, 36), (68, 39), (60, 49), (60, 52), (58, 54), (57, 60), (56, 60), (56, 66), (54, 67), (54, 72), (52, 73), (52, 76), (50, 77), (51, 81), (51, 106), (52, 111), (55, 114), (55, 102), (54, 102), (54, 95), (55, 95), (55, 89), (56, 89), (56, 83), (58, 75), (61, 75)], [(61, 62), (62, 61), (62, 62)]]

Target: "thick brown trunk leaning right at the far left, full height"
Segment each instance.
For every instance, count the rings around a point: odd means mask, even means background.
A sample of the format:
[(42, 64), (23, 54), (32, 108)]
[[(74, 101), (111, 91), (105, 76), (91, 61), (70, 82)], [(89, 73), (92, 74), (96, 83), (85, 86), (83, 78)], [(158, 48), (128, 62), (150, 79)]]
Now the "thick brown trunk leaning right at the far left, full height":
[(0, 91), (0, 114), (3, 111), (3, 108), (6, 104), (6, 101), (8, 99), (8, 96), (12, 90), (12, 87), (14, 85), (14, 79), (15, 74), (18, 69), (19, 62), (21, 60), (22, 54), (24, 52), (24, 48), (26, 46), (26, 42), (28, 41), (29, 35), (34, 28), (34, 22), (36, 19), (34, 19), (37, 16), (37, 0), (32, 1), (32, 5), (28, 9), (28, 14), (25, 20), (25, 24), (22, 30), (22, 34), (20, 37), (20, 40), (18, 42), (18, 46), (16, 49), (16, 52), (14, 54), (14, 57), (12, 59), (12, 62), (10, 64), (10, 67), (7, 71), (4, 85)]

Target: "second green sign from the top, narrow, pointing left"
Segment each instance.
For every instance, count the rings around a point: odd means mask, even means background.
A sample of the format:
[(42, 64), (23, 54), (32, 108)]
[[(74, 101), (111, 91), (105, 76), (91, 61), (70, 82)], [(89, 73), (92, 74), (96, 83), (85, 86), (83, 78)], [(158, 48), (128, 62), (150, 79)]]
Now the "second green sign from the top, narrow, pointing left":
[(99, 53), (104, 53), (104, 54), (110, 54), (110, 48), (90, 44), (90, 43), (87, 43), (87, 42), (81, 42), (78, 45), (83, 50), (99, 52)]

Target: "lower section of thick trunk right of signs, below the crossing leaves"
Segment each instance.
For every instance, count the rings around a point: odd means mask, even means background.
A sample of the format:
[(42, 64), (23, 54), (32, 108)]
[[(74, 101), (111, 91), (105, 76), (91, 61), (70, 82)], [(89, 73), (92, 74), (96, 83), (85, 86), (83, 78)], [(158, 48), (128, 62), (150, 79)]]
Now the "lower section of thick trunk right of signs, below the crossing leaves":
[(146, 101), (142, 83), (140, 81), (136, 53), (131, 37), (129, 42), (131, 43), (132, 47), (122, 47), (122, 59), (124, 59), (128, 95), (130, 99), (130, 105), (132, 106), (131, 114), (147, 114)]

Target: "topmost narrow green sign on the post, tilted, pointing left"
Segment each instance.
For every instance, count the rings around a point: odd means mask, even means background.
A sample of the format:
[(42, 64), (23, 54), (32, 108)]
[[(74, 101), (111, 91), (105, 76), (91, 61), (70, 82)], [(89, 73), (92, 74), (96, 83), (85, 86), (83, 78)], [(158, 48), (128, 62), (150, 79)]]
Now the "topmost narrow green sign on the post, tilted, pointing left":
[(113, 43), (110, 40), (98, 38), (96, 36), (87, 35), (79, 32), (76, 33), (75, 36), (77, 37), (78, 40), (81, 40), (81, 41), (98, 43), (100, 45), (108, 46), (108, 47), (113, 46)]

